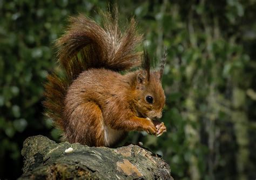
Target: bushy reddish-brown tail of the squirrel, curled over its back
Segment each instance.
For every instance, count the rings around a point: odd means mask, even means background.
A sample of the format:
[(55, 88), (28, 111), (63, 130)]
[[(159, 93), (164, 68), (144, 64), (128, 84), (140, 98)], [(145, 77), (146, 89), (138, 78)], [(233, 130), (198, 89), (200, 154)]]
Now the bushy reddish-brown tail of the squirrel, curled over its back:
[(136, 32), (132, 18), (129, 27), (121, 33), (118, 13), (102, 13), (103, 26), (83, 15), (71, 17), (65, 34), (56, 42), (57, 60), (64, 68), (64, 77), (48, 76), (45, 84), (46, 114), (58, 127), (64, 129), (62, 117), (66, 91), (73, 80), (89, 68), (105, 68), (114, 71), (127, 70), (141, 63), (141, 53), (136, 46), (142, 35)]

